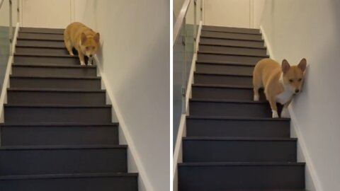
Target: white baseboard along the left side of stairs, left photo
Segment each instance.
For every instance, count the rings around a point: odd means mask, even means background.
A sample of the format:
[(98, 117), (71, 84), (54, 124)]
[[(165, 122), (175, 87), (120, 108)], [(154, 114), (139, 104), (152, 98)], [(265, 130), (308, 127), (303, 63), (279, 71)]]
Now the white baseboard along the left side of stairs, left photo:
[[(14, 35), (13, 35), (13, 44), (12, 44), (12, 50), (11, 50), (13, 54), (16, 50), (16, 39), (18, 37), (18, 31), (19, 31), (19, 23), (16, 23), (16, 31), (14, 32)], [(1, 88), (0, 122), (4, 122), (4, 103), (7, 103), (7, 88), (9, 87), (9, 75), (11, 74), (12, 63), (13, 63), (13, 55), (9, 55), (7, 66), (6, 66), (4, 82), (2, 83), (2, 88)]]

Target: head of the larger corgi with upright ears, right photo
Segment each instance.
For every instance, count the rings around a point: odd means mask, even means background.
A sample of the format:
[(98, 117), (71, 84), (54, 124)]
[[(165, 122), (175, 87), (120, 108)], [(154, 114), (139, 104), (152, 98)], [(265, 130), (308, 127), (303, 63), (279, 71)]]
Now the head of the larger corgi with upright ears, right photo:
[(283, 83), (293, 93), (300, 93), (305, 70), (307, 66), (306, 59), (302, 59), (296, 66), (290, 66), (286, 59), (283, 59), (281, 69), (283, 72)]

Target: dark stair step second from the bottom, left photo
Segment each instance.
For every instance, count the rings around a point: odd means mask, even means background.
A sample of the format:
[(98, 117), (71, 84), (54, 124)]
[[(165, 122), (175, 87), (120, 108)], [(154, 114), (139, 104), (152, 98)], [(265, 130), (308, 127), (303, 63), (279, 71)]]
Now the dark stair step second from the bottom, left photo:
[(127, 146), (1, 146), (0, 175), (126, 173)]

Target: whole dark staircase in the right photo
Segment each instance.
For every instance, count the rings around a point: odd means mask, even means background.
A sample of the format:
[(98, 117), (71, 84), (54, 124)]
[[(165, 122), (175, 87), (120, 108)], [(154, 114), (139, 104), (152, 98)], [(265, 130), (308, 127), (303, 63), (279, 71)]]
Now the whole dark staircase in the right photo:
[(252, 71), (265, 57), (258, 29), (203, 26), (179, 191), (305, 190), (290, 120), (271, 118), (263, 92), (252, 100)]

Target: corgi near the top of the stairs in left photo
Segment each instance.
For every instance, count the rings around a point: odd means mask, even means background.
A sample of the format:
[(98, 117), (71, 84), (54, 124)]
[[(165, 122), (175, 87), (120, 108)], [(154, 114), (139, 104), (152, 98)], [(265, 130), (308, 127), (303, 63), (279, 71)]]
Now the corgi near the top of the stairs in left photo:
[(77, 50), (81, 65), (85, 65), (84, 56), (89, 57), (87, 64), (91, 65), (98, 50), (99, 33), (82, 23), (71, 23), (64, 30), (64, 43), (71, 56), (72, 48)]

